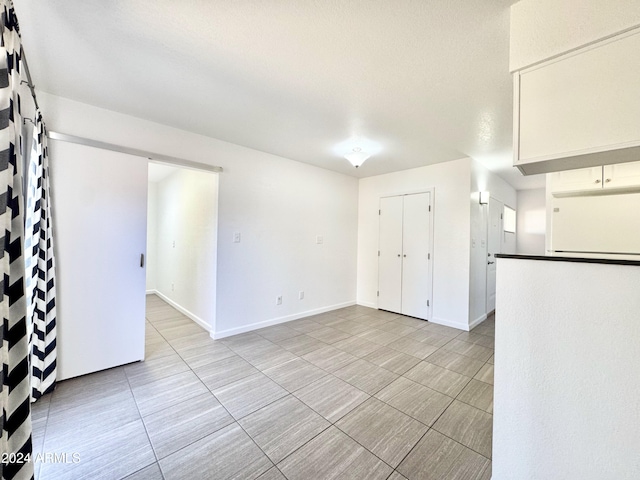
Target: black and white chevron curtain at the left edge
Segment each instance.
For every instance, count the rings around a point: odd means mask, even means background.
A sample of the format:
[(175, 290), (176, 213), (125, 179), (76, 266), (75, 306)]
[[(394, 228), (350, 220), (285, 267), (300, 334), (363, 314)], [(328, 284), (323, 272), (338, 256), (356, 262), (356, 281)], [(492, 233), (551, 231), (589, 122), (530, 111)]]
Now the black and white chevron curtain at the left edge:
[(13, 2), (0, 9), (0, 478), (13, 480), (33, 479), (30, 402), (55, 386), (55, 260), (46, 128), (37, 111), (24, 196), (22, 45)]

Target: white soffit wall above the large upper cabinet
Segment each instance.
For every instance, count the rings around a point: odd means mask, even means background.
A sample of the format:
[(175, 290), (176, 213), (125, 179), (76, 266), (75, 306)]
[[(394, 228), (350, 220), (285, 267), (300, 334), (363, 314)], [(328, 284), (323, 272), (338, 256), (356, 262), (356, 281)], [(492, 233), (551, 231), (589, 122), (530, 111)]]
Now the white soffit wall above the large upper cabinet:
[(511, 71), (640, 25), (638, 0), (521, 0), (511, 7)]

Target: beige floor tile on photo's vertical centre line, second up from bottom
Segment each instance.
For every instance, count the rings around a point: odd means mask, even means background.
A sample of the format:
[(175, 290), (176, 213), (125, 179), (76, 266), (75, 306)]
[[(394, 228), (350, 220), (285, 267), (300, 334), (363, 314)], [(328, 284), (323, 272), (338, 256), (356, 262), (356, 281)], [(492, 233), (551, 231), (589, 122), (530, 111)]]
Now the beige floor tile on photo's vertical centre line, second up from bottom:
[(362, 390), (333, 375), (301, 388), (294, 395), (332, 423), (369, 398)]

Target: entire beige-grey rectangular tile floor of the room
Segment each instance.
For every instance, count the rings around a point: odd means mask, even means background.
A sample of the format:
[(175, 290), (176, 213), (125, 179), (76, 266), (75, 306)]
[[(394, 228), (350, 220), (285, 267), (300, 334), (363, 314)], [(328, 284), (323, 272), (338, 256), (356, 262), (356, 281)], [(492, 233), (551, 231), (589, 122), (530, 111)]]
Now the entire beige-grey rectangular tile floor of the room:
[[(45, 479), (489, 480), (494, 320), (353, 306), (213, 341), (147, 298), (146, 361), (33, 405)], [(71, 458), (69, 456), (69, 458)]]

